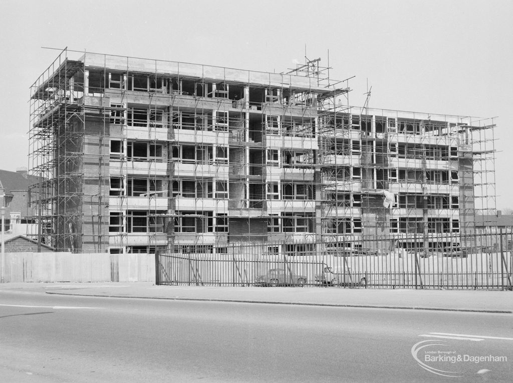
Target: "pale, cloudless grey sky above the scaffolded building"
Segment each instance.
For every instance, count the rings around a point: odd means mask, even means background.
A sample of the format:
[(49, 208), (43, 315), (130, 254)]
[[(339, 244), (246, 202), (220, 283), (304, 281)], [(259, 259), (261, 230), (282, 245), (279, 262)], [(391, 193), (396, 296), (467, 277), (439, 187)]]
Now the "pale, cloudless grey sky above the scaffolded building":
[(497, 207), (512, 208), (513, 1), (12, 1), (0, 8), (0, 169), (28, 166), (43, 47), (282, 72), (321, 58), (349, 103), (498, 117)]

